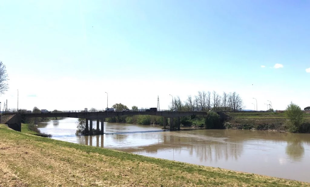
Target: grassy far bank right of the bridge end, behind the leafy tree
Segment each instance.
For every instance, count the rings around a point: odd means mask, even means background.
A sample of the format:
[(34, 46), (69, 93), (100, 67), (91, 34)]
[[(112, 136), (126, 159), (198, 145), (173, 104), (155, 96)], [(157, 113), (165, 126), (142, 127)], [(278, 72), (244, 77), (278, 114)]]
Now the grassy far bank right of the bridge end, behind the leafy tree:
[[(224, 123), (229, 129), (256, 129), (286, 131), (286, 117), (284, 113), (226, 113), (230, 120)], [(310, 133), (310, 114), (303, 115), (301, 131)]]

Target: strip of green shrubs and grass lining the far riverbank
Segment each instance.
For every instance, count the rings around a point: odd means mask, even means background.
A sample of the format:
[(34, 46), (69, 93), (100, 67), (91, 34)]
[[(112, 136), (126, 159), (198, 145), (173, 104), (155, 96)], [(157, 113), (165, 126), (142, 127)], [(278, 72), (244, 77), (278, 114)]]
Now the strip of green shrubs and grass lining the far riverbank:
[[(181, 127), (193, 127), (193, 128), (207, 128), (207, 129), (246, 129), (246, 130), (274, 130), (279, 132), (295, 132), (295, 133), (310, 133), (310, 114), (303, 113), (303, 120), (300, 121), (298, 129), (293, 131), (289, 128), (289, 119), (285, 113), (277, 112), (225, 112), (230, 118), (218, 122), (219, 124), (213, 125), (214, 122), (209, 122), (209, 126), (206, 124), (206, 117), (203, 116), (186, 116), (180, 117)], [(218, 120), (218, 119), (216, 119)], [(118, 123), (131, 123), (142, 125), (159, 125), (163, 126), (163, 118), (161, 116), (150, 115), (135, 115), (135, 116), (122, 116), (120, 121), (118, 118), (106, 118), (106, 122), (118, 122)], [(176, 126), (176, 120), (174, 120)], [(216, 123), (216, 122), (215, 122)], [(166, 124), (169, 124), (169, 118), (167, 118)], [(210, 127), (211, 125), (211, 127)]]

